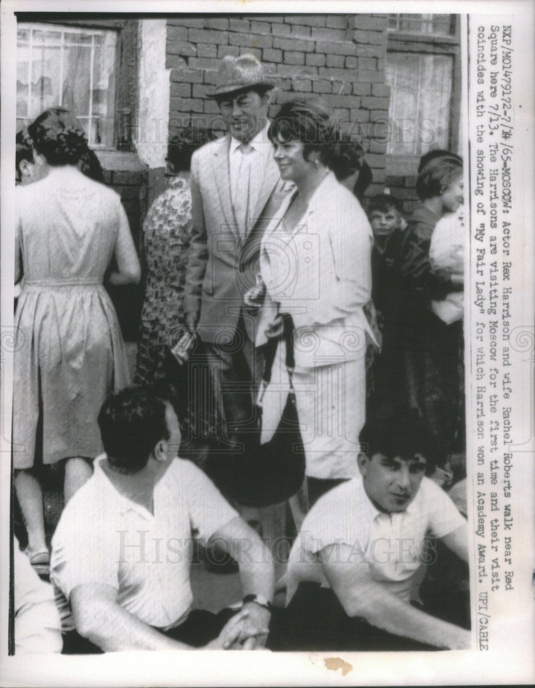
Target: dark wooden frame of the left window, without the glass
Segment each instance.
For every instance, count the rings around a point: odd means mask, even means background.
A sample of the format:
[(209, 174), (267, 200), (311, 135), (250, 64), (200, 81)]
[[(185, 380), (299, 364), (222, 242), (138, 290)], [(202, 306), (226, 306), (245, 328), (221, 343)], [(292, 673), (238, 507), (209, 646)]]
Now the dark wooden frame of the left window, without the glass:
[(100, 152), (135, 151), (133, 142), (134, 116), (137, 107), (137, 19), (104, 18), (101, 14), (84, 19), (73, 14), (56, 12), (16, 12), (20, 23), (54, 24), (72, 28), (115, 30), (115, 96), (113, 104), (113, 135), (111, 144), (90, 146)]

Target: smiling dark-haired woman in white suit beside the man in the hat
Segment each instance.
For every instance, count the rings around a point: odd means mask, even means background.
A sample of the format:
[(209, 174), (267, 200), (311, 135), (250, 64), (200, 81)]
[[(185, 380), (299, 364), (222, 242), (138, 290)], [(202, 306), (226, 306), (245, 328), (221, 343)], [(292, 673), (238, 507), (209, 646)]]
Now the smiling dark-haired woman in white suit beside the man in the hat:
[[(282, 180), (295, 184), (260, 252), (266, 297), (262, 336), (282, 314), (293, 319), (295, 387), (311, 505), (356, 475), (358, 433), (365, 421), (365, 351), (370, 329), (372, 230), (354, 195), (332, 171), (336, 133), (321, 104), (285, 103), (269, 128)], [(284, 343), (272, 376), (284, 407)], [(276, 420), (273, 420), (276, 427)]]

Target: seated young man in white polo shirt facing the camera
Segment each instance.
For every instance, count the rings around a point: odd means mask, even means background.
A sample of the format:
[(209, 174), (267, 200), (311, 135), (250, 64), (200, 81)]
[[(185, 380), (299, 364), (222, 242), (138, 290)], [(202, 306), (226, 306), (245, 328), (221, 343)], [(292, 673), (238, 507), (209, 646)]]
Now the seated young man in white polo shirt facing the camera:
[(468, 630), (411, 603), (418, 569), (429, 561), (426, 537), (468, 560), (466, 520), (424, 477), (436, 458), (423, 422), (416, 411), (367, 421), (360, 439), (360, 475), (319, 499), (293, 545), (288, 606), (272, 623), (269, 647), (469, 647)]

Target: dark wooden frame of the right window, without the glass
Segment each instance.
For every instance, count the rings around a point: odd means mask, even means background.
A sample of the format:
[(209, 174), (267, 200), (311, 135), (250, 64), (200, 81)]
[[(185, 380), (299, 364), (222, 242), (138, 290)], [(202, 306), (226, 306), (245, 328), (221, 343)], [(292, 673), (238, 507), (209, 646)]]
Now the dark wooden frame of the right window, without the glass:
[[(450, 151), (459, 149), (459, 125), (462, 98), (462, 54), (460, 42), (459, 14), (452, 14), (453, 32), (450, 36), (435, 34), (414, 34), (387, 30), (387, 60), (389, 52), (409, 52), (427, 55), (446, 55), (452, 58), (450, 121), (448, 127), (447, 148)], [(407, 162), (411, 173), (416, 174), (419, 155), (396, 155), (387, 153), (387, 169), (390, 174), (407, 174)]]

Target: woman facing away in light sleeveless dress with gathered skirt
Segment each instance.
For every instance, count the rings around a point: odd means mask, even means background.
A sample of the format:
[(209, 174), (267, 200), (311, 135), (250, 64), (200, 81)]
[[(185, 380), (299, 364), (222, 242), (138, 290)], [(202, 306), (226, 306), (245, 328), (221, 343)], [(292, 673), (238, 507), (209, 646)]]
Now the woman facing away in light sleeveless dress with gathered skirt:
[(89, 158), (78, 120), (48, 109), (28, 133), (45, 176), (16, 189), (15, 281), (23, 274), (24, 282), (15, 313), (12, 442), (27, 553), (45, 572), (43, 492), (34, 469), (65, 462), (65, 501), (91, 475), (102, 451), (98, 411), (129, 383), (102, 282), (106, 275), (114, 285), (136, 283), (140, 267), (119, 195), (77, 167)]

